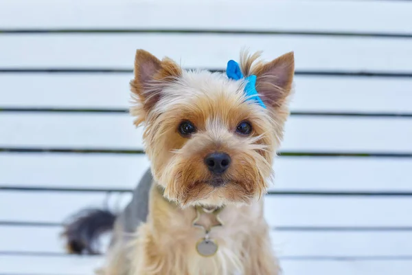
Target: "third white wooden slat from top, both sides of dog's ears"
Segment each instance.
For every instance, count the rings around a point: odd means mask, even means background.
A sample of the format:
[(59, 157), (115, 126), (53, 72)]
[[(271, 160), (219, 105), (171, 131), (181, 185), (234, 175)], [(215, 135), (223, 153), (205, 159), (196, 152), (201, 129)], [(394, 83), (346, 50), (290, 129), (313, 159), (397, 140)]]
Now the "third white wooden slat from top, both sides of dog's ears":
[[(133, 74), (0, 74), (0, 104), (127, 109), (132, 78)], [(292, 111), (412, 113), (410, 79), (295, 76), (295, 89)]]

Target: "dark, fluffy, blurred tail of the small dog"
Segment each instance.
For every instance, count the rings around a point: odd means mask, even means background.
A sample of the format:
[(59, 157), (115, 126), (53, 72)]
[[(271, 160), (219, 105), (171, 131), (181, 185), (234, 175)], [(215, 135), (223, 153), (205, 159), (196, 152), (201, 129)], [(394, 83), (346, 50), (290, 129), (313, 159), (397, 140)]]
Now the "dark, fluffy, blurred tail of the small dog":
[(98, 239), (113, 229), (116, 215), (108, 210), (87, 209), (75, 214), (65, 223), (62, 236), (71, 254), (100, 254)]

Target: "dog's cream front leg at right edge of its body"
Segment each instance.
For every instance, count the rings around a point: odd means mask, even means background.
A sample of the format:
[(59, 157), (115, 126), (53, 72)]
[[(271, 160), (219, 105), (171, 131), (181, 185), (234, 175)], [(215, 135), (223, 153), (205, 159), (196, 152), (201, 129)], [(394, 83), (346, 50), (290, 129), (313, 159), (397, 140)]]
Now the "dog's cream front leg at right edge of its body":
[(260, 225), (244, 245), (244, 275), (278, 275), (279, 263), (272, 249), (269, 228)]

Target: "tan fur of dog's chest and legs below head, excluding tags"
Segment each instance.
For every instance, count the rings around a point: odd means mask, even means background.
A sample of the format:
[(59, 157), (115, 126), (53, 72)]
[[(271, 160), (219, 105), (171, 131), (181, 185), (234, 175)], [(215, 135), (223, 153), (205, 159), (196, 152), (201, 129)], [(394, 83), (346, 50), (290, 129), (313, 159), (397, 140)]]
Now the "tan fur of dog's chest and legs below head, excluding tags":
[(248, 206), (226, 206), (220, 214), (224, 225), (211, 231), (211, 238), (219, 244), (218, 254), (205, 258), (194, 247), (204, 236), (201, 229), (190, 226), (195, 210), (166, 201), (152, 188), (148, 222), (139, 227), (133, 241), (124, 243), (128, 249), (113, 248), (102, 274), (278, 274), (262, 205), (263, 200)]

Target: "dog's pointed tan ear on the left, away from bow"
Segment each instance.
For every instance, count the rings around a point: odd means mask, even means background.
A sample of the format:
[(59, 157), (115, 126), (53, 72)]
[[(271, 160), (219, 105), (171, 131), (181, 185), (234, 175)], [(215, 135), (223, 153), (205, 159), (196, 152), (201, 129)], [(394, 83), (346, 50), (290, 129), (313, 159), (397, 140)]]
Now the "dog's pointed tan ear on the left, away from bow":
[(137, 50), (135, 78), (130, 81), (134, 103), (130, 113), (137, 117), (136, 125), (146, 120), (147, 113), (159, 102), (163, 87), (179, 78), (181, 74), (181, 67), (170, 58), (160, 61), (145, 50)]

